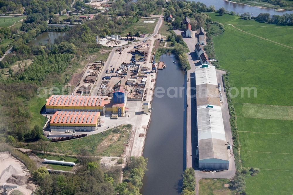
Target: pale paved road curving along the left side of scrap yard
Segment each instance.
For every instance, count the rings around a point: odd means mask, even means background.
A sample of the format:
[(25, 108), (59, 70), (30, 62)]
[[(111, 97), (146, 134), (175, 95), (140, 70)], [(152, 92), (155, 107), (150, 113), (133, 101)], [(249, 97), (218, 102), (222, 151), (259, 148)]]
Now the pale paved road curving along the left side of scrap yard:
[[(151, 34), (150, 36), (148, 36), (147, 39), (149, 39), (149, 38), (151, 38), (151, 37), (154, 37), (154, 36), (159, 32), (159, 29), (160, 29), (162, 23), (163, 23), (162, 18), (158, 18), (158, 23), (156, 24), (156, 27), (155, 27), (155, 29), (154, 29), (154, 33)], [(144, 40), (144, 39), (143, 39), (143, 40)], [(123, 47), (133, 47), (133, 46), (137, 46), (137, 45), (141, 44), (143, 40), (140, 40), (140, 41), (138, 41), (138, 42), (131, 43), (131, 44), (129, 44), (129, 45), (124, 45)], [(105, 74), (106, 74), (105, 70), (107, 70), (108, 68), (110, 68), (110, 64), (121, 63), (121, 62), (117, 62), (117, 61), (113, 61), (113, 60), (112, 60), (112, 59), (113, 59), (113, 56), (114, 56), (115, 54), (116, 54), (116, 55), (120, 55), (118, 52), (115, 52), (116, 49), (117, 49), (117, 47), (114, 47), (114, 48), (112, 49), (112, 51), (111, 51), (111, 53), (110, 53), (110, 55), (109, 55), (109, 57), (108, 57), (108, 59), (107, 59), (107, 63), (105, 64), (105, 67), (102, 69), (103, 72), (102, 72), (102, 73), (100, 74), (100, 76), (99, 76), (100, 78), (98, 78), (98, 81), (94, 84), (95, 87), (94, 87), (94, 89), (92, 90), (91, 95), (97, 95), (97, 94), (98, 94), (98, 91), (99, 91), (99, 89), (100, 89), (100, 86), (101, 86), (101, 84), (102, 84), (102, 82), (103, 82), (103, 78), (105, 77)], [(115, 59), (116, 59), (116, 58), (115, 58)]]

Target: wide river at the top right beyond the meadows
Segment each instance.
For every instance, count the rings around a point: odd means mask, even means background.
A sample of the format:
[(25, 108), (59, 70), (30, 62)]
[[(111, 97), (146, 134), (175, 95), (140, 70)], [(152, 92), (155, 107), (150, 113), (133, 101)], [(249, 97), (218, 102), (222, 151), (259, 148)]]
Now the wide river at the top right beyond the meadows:
[[(256, 6), (249, 6), (245, 4), (238, 4), (224, 0), (190, 0), (190, 1), (200, 1), (204, 3), (207, 7), (210, 5), (214, 5), (216, 10), (221, 7), (224, 7), (228, 11), (234, 11), (239, 14), (243, 13), (253, 13), (253, 16), (258, 16), (260, 13), (269, 13), (270, 15), (283, 15), (284, 13), (293, 13), (293, 11), (275, 11), (274, 9), (270, 8), (260, 8)], [(282, 7), (280, 8), (282, 9)]]

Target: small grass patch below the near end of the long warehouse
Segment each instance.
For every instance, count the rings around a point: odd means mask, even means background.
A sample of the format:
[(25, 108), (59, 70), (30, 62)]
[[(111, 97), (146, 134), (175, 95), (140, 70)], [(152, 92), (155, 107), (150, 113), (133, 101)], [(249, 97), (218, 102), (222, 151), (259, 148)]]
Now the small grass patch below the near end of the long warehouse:
[(229, 184), (229, 179), (200, 179), (199, 194), (200, 195), (232, 195), (234, 194), (224, 184)]

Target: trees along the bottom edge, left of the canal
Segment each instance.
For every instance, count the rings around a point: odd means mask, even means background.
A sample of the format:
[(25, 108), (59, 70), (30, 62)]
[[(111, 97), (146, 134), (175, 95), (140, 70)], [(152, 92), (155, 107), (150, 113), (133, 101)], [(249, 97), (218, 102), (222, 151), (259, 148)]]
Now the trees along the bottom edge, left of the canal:
[(49, 174), (46, 167), (33, 171), (33, 178), (38, 182), (38, 194), (92, 194), (92, 195), (130, 195), (140, 194), (141, 179), (146, 169), (147, 159), (143, 157), (128, 158), (127, 170), (130, 177), (120, 183), (118, 167), (105, 168), (86, 153), (78, 157), (81, 166), (75, 174)]

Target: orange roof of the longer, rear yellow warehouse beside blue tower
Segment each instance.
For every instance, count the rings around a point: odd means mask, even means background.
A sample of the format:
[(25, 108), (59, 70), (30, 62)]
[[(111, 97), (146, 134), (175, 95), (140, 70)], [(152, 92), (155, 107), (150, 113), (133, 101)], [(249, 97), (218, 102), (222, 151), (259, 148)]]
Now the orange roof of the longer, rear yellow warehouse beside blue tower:
[(46, 106), (105, 106), (112, 97), (94, 95), (51, 95)]

